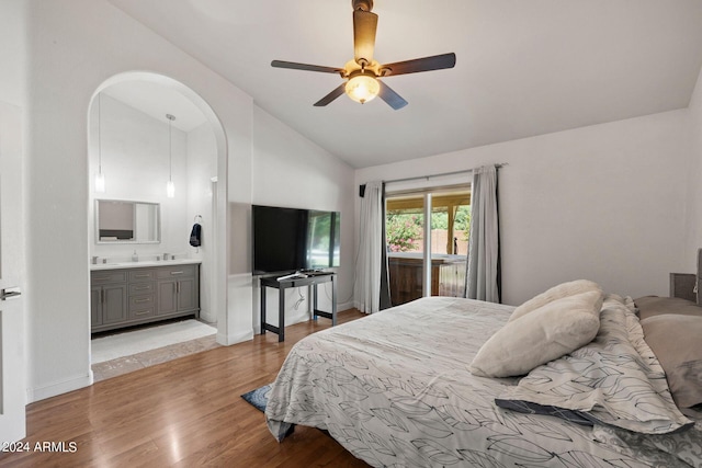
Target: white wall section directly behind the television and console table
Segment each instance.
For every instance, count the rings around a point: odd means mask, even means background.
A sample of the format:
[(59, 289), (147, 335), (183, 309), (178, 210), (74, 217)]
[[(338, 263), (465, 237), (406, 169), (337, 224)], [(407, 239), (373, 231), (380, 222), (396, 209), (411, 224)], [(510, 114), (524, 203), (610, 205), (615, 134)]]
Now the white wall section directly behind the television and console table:
[[(252, 202), (257, 205), (341, 212), (341, 261), (338, 309), (352, 306), (353, 296), (353, 169), (331, 157), (259, 107), (253, 109)], [(249, 267), (249, 271), (251, 269)], [(254, 282), (258, 290), (258, 284)], [(285, 323), (306, 320), (312, 298), (307, 288), (287, 289)], [(260, 326), (259, 295), (254, 292), (254, 324)], [(305, 300), (294, 305), (303, 294)], [(319, 286), (319, 306), (330, 310), (331, 287)], [(267, 292), (269, 323), (278, 324), (278, 292)], [(325, 320), (325, 319), (321, 319)]]

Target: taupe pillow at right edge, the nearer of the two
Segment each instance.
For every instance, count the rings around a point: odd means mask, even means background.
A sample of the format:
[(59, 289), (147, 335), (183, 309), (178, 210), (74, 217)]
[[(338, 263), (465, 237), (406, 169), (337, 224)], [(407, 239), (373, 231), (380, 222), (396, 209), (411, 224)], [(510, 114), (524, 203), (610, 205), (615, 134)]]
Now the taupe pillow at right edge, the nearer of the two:
[(702, 403), (702, 315), (657, 315), (641, 326), (678, 408)]

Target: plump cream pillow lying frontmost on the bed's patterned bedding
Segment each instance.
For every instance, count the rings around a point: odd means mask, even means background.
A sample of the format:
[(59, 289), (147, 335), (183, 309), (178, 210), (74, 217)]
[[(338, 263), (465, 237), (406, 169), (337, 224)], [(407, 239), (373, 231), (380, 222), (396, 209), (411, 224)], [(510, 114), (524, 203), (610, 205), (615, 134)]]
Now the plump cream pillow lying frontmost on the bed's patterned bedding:
[(590, 290), (507, 322), (480, 347), (468, 369), (482, 377), (524, 375), (588, 344), (600, 329), (602, 300), (601, 290)]

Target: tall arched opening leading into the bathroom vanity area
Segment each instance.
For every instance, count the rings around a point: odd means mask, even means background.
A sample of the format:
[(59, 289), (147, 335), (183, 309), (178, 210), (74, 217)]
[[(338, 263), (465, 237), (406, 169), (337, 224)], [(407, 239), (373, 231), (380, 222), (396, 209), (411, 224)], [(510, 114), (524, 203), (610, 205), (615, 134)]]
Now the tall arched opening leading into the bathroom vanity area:
[[(129, 130), (136, 135), (125, 136)], [(93, 93), (88, 148), (90, 256), (115, 264), (132, 255), (139, 261), (160, 260), (166, 253), (200, 260), (202, 318), (217, 322), (222, 332), (226, 323), (217, 320), (217, 311), (226, 310), (227, 144), (213, 109), (191, 88), (169, 77), (120, 73)], [(101, 193), (95, 191), (98, 173), (105, 181)], [(176, 181), (173, 197), (166, 193), (167, 180)], [(134, 242), (102, 241), (95, 217), (98, 199), (156, 206), (159, 217), (152, 230), (159, 236), (144, 241), (134, 233)], [(188, 242), (194, 222), (203, 228), (201, 248)], [(125, 303), (133, 299), (128, 287), (126, 284), (120, 293)]]

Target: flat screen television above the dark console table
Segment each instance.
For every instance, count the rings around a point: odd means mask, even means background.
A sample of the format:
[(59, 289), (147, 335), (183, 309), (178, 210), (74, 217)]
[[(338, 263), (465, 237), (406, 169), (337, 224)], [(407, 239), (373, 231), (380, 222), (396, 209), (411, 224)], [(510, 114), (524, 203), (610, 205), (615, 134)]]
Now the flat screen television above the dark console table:
[(339, 266), (341, 214), (253, 205), (253, 274)]

